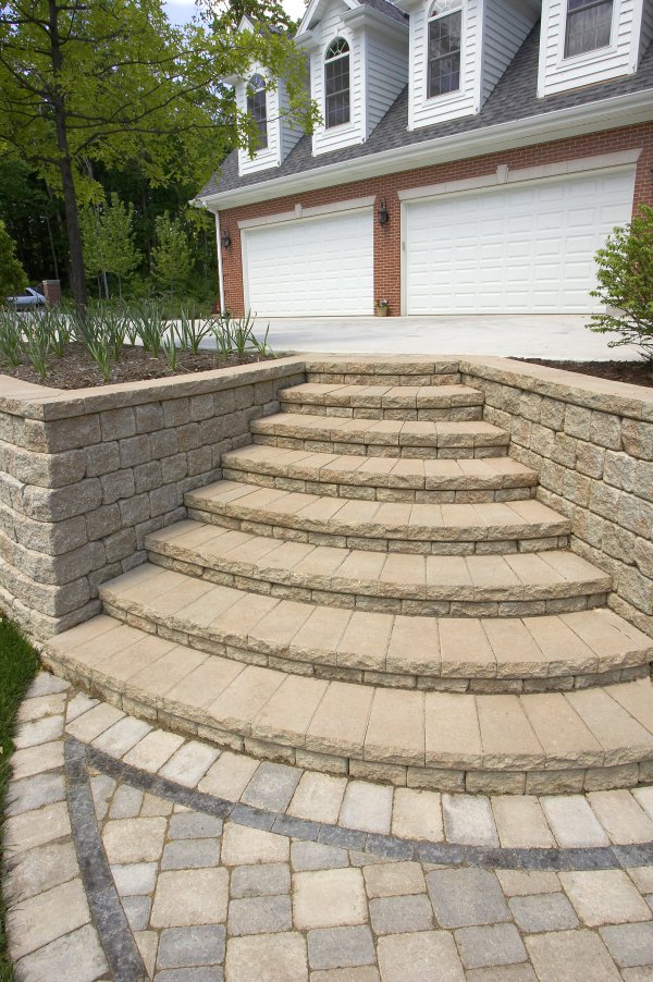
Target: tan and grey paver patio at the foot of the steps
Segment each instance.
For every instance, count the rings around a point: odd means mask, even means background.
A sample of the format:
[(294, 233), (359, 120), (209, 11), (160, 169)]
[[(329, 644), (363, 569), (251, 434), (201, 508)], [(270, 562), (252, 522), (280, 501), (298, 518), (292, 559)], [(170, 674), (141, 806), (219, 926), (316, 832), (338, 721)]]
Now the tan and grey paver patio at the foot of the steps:
[[(81, 742), (64, 766), (66, 704)], [(258, 764), (46, 674), (17, 746), (4, 885), (20, 982), (653, 978), (648, 788), (441, 796)]]

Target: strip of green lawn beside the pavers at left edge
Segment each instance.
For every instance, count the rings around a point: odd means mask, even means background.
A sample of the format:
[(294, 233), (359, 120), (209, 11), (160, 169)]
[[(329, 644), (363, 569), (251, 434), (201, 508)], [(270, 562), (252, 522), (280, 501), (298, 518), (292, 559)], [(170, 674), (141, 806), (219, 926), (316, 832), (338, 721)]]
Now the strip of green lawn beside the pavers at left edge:
[[(38, 668), (38, 655), (10, 621), (0, 621), (0, 860), (4, 796), (11, 776), (10, 758), (16, 712)], [(0, 982), (13, 982), (13, 968), (7, 954), (4, 904), (0, 888)]]

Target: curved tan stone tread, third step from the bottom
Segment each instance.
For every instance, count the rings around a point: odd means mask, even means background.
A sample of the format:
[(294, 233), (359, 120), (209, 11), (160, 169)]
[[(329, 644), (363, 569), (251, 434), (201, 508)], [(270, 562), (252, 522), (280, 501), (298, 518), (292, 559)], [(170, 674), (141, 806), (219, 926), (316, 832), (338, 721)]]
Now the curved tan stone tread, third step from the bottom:
[(565, 550), (505, 556), (369, 552), (193, 520), (152, 532), (146, 549), (235, 576), (348, 594), (482, 602), (604, 593), (612, 588), (608, 574)]

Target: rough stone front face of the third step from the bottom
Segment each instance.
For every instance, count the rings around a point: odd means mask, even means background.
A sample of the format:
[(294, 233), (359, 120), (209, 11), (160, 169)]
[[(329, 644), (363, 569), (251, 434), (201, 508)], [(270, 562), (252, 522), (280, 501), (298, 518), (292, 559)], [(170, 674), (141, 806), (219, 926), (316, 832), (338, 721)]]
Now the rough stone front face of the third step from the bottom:
[[(553, 587), (506, 588), (416, 587), (410, 584), (358, 582), (352, 591), (347, 579), (308, 576), (285, 570), (252, 569), (247, 564), (175, 548), (173, 543), (147, 543), (148, 558), (157, 566), (196, 579), (251, 593), (269, 594), (304, 603), (347, 610), (433, 617), (530, 617), (563, 614), (605, 606), (607, 592), (601, 584), (568, 584)], [(528, 596), (526, 596), (528, 593)], [(497, 598), (500, 594), (501, 599)]]

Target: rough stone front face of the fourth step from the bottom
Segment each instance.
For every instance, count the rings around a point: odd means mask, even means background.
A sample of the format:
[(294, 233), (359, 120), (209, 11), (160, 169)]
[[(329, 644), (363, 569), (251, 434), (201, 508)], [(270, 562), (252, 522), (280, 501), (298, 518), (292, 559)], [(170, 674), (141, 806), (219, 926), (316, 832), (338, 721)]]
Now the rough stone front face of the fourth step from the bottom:
[[(337, 529), (337, 523), (309, 521), (288, 517), (287, 524), (280, 525), (280, 517), (267, 521), (261, 512), (238, 514), (235, 507), (227, 505), (227, 511), (212, 510), (210, 504), (198, 506), (192, 500), (187, 502), (188, 518), (219, 525), (222, 528), (238, 529), (256, 536), (270, 536), (293, 542), (310, 542), (313, 545), (340, 545), (348, 549), (367, 549), (375, 552), (406, 552), (415, 555), (501, 555), (509, 552), (540, 552), (549, 549), (567, 549), (569, 536), (565, 524), (560, 526), (540, 527), (539, 531), (523, 527), (522, 530), (502, 529), (504, 539), (493, 538), (484, 528), (479, 529), (438, 529), (440, 538), (434, 538), (434, 529), (419, 527), (397, 529), (396, 533), (379, 531), (372, 538), (366, 535), (364, 526), (360, 535), (357, 529), (348, 527)], [(285, 517), (285, 516), (284, 516)], [(332, 531), (329, 531), (332, 529)], [(495, 533), (498, 536), (498, 533)], [(459, 538), (458, 538), (459, 536)]]

